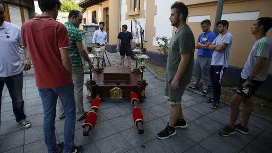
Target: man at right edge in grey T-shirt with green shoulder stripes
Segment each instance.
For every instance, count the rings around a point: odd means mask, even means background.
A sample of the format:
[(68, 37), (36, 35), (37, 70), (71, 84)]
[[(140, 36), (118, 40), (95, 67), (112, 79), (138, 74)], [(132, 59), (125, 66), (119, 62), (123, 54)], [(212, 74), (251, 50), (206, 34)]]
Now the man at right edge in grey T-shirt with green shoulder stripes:
[[(239, 87), (230, 101), (231, 118), (229, 124), (219, 132), (221, 136), (235, 134), (235, 130), (243, 134), (249, 134), (249, 117), (253, 109), (252, 95), (266, 80), (272, 64), (272, 41), (266, 36), (272, 27), (272, 18), (258, 18), (251, 28), (256, 42), (253, 45), (249, 57), (244, 64), (241, 73)], [(235, 124), (239, 116), (239, 104), (243, 101), (242, 122)]]

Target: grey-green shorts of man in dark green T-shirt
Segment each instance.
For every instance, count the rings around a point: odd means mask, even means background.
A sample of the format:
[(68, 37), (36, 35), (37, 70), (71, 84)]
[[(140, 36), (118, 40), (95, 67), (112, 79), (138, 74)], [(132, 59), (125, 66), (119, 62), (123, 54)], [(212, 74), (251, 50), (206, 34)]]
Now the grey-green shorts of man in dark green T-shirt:
[(172, 90), (169, 83), (165, 82), (164, 98), (168, 99), (171, 105), (181, 104), (181, 97), (187, 85), (180, 85), (179, 88)]

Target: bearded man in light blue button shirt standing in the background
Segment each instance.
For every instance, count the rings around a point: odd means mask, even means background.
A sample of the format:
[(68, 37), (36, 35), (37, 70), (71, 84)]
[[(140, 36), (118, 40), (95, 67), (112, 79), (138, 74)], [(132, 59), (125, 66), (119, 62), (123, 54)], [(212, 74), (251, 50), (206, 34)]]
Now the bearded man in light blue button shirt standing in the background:
[(95, 31), (92, 37), (92, 43), (99, 43), (100, 46), (104, 46), (108, 42), (108, 34), (104, 31), (104, 22), (99, 22), (99, 29)]

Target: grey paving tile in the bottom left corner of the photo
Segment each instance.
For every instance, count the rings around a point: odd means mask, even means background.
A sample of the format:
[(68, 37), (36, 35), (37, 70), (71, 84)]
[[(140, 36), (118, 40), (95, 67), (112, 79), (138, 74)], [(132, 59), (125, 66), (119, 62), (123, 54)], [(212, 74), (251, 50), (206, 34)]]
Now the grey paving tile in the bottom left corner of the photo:
[(1, 151), (23, 146), (23, 130), (0, 136)]

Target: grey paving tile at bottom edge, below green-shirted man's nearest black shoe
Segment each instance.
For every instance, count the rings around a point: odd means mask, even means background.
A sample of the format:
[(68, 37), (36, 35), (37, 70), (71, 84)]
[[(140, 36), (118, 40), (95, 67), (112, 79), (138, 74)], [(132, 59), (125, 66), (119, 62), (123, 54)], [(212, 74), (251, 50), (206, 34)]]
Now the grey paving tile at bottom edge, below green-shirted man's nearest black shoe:
[(139, 153), (173, 153), (173, 151), (171, 151), (168, 147), (165, 147), (165, 145), (158, 139), (147, 142), (142, 146), (135, 148), (135, 150)]

